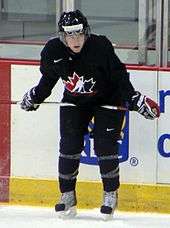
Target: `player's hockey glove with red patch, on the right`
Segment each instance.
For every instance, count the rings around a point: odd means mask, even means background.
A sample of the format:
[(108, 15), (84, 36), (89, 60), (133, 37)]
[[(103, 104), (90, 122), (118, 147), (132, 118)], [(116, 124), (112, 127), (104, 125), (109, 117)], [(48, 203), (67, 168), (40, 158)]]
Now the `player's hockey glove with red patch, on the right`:
[(160, 109), (158, 104), (151, 100), (149, 97), (142, 95), (136, 91), (136, 94), (132, 96), (130, 110), (134, 110), (143, 115), (146, 119), (153, 120), (159, 118)]

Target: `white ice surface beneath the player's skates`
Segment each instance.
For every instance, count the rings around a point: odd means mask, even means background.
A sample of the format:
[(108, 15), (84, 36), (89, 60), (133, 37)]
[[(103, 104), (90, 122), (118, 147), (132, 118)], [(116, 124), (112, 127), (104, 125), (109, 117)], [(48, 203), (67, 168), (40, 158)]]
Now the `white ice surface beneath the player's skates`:
[(0, 206), (0, 228), (168, 228), (170, 215), (116, 211), (103, 221), (98, 209), (78, 210), (74, 219), (57, 218), (53, 208)]

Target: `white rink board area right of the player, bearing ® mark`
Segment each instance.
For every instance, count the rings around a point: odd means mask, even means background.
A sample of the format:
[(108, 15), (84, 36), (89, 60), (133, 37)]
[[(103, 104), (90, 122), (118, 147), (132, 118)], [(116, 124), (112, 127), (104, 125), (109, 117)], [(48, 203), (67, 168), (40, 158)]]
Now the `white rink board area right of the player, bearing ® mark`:
[[(157, 100), (157, 73), (129, 71), (136, 90)], [(146, 120), (137, 112), (130, 112), (129, 159), (121, 163), (121, 181), (129, 183), (155, 183), (157, 165), (157, 121)], [(138, 164), (132, 165), (131, 158)]]

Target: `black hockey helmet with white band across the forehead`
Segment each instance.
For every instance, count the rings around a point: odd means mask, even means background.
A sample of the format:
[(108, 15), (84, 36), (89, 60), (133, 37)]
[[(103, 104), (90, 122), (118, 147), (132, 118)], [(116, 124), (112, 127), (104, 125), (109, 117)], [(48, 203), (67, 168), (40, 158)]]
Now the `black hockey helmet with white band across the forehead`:
[(90, 27), (86, 17), (79, 10), (63, 12), (58, 22), (58, 32), (77, 31), (89, 35)]

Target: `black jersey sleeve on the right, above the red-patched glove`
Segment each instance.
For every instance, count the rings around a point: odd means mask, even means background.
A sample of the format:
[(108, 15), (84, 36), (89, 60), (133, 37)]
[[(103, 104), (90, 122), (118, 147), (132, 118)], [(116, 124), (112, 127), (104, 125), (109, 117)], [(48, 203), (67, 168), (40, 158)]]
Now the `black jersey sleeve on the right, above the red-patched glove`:
[(134, 87), (129, 79), (125, 64), (123, 64), (116, 55), (112, 43), (105, 38), (105, 50), (107, 58), (107, 68), (110, 74), (110, 80), (113, 88), (116, 88), (121, 99), (127, 104), (135, 93)]

